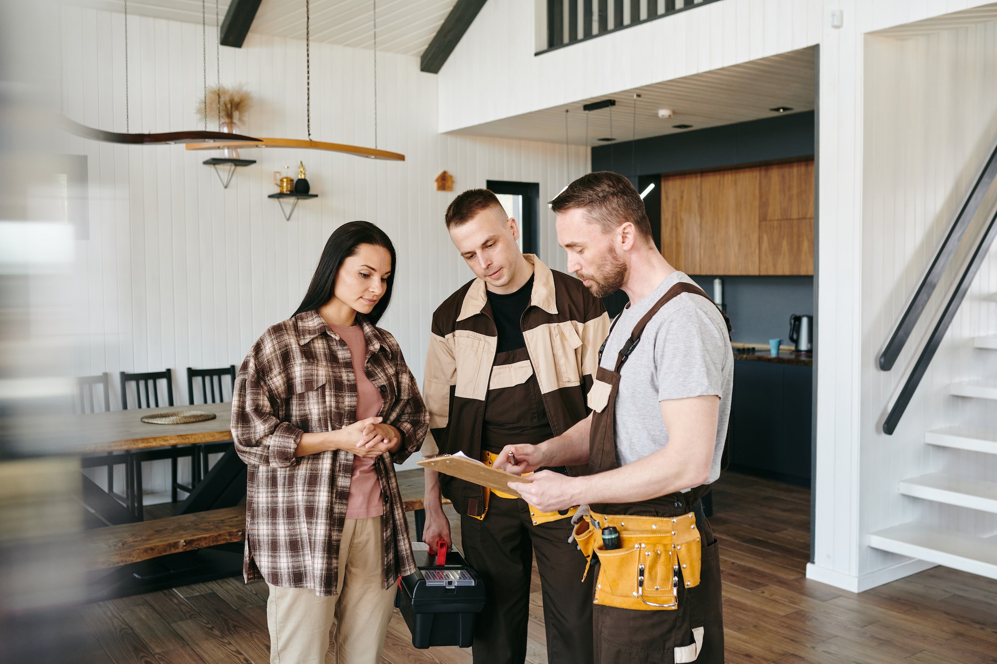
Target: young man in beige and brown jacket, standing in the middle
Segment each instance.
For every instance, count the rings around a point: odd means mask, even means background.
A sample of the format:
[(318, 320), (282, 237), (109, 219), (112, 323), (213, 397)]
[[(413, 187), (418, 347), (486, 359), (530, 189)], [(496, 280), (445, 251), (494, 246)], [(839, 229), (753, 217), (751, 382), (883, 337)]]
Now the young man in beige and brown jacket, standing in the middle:
[[(424, 387), (431, 434), (423, 455), (463, 452), (494, 464), (504, 446), (539, 443), (585, 418), (609, 319), (580, 281), (522, 254), (515, 219), (492, 191), (460, 194), (446, 221), (477, 278), (433, 315)], [(591, 662), (592, 584), (582, 582), (584, 558), (568, 543), (572, 505), (539, 510), (427, 470), (423, 540), (431, 547), (451, 540), (441, 490), (461, 514), (465, 556), (485, 579), (475, 664), (524, 661), (534, 550), (547, 661)]]

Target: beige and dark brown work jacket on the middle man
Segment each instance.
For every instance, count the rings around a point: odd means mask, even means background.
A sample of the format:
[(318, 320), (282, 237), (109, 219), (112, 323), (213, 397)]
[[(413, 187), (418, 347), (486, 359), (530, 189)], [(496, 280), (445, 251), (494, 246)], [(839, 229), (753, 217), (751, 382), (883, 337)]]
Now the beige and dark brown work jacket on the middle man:
[[(551, 270), (533, 254), (524, 255), (533, 265), (533, 290), (522, 314), (522, 336), (550, 428), (559, 436), (588, 416), (585, 395), (598, 368), (609, 316), (581, 281)], [(510, 380), (501, 372), (516, 366), (493, 369), (497, 347), (498, 328), (485, 281), (474, 279), (433, 314), (423, 385), (430, 412), (424, 456), (463, 452), (484, 460), (482, 427), (489, 387)], [(484, 513), (484, 491), (478, 485), (447, 475), (440, 476), (440, 485), (462, 514)]]

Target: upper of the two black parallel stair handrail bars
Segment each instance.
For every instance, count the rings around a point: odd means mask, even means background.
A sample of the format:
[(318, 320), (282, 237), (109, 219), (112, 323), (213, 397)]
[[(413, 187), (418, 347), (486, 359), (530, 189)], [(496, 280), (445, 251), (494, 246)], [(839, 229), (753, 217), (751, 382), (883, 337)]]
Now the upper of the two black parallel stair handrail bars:
[(972, 188), (969, 189), (969, 193), (966, 194), (965, 200), (962, 201), (962, 205), (959, 206), (959, 211), (956, 213), (955, 219), (948, 229), (948, 234), (945, 235), (945, 239), (942, 240), (941, 245), (938, 247), (934, 259), (921, 278), (921, 282), (917, 285), (917, 290), (914, 291), (913, 297), (910, 298), (910, 303), (907, 304), (903, 316), (900, 317), (899, 322), (893, 329), (893, 334), (890, 335), (889, 341), (886, 342), (886, 346), (883, 348), (882, 354), (879, 355), (879, 368), (883, 371), (889, 371), (893, 368), (896, 358), (899, 357), (904, 344), (910, 338), (910, 333), (913, 331), (914, 325), (917, 324), (921, 314), (924, 313), (931, 294), (934, 293), (935, 287), (941, 281), (941, 276), (945, 272), (945, 268), (948, 267), (952, 256), (955, 255), (956, 247), (959, 246), (962, 236), (969, 227), (969, 222), (979, 209), (980, 203), (983, 202), (987, 189), (990, 188), (990, 184), (994, 181), (994, 178), (997, 178), (997, 143), (994, 144), (993, 150), (990, 151), (989, 159), (987, 159), (976, 175), (976, 180), (973, 182)]

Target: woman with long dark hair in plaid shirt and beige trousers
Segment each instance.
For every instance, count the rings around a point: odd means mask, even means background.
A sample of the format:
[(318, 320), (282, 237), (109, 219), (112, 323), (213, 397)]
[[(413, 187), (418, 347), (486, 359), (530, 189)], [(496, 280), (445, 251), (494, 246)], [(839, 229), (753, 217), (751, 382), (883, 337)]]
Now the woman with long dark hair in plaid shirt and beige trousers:
[(243, 575), (263, 578), (270, 662), (378, 662), (399, 576), (416, 570), (394, 464), (429, 415), (398, 342), (375, 327), (395, 247), (367, 221), (336, 229), (294, 315), (239, 369), (232, 440), (248, 466)]

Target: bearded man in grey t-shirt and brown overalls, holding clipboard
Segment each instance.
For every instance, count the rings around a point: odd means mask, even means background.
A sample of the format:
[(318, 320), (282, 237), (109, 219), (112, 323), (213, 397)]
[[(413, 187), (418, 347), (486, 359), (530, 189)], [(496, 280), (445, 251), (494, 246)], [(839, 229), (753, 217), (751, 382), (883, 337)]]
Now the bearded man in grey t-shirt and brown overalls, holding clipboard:
[(540, 445), (502, 450), (502, 467), (588, 464), (584, 477), (541, 471), (516, 487), (538, 509), (589, 507), (574, 536), (598, 559), (596, 662), (723, 662), (720, 558), (699, 498), (720, 476), (731, 412), (727, 321), (658, 252), (625, 177), (583, 175), (551, 207), (568, 269), (595, 295), (622, 288), (630, 304), (606, 340), (592, 414)]

